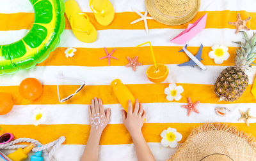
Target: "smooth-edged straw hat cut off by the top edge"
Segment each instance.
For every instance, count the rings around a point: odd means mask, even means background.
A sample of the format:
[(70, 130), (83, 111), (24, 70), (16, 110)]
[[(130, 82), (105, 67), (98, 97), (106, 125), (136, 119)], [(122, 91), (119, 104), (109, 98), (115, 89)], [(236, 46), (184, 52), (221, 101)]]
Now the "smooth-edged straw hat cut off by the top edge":
[(148, 13), (166, 25), (181, 25), (195, 17), (200, 0), (145, 0)]

